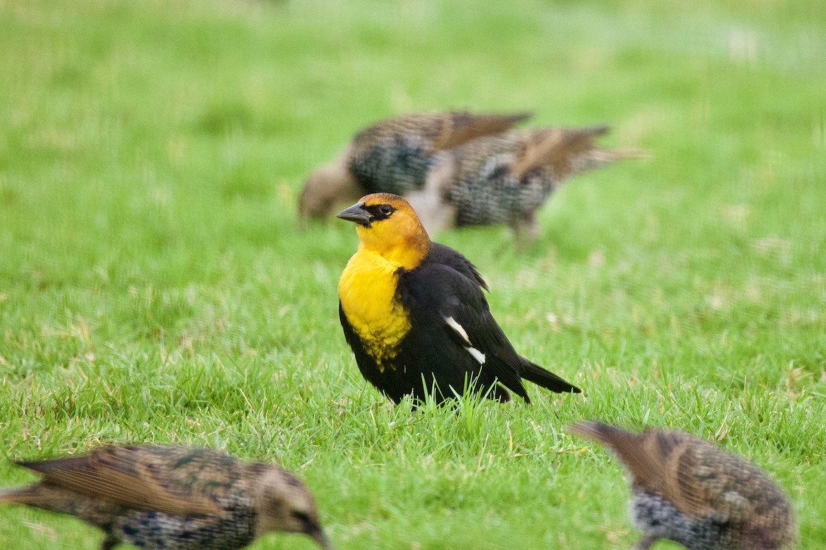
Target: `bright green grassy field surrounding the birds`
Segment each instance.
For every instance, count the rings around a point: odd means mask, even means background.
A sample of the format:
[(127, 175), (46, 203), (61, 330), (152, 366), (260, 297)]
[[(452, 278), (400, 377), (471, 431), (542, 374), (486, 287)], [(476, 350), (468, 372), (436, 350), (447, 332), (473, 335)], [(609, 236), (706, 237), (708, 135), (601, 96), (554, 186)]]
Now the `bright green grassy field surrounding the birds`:
[[(622, 469), (563, 431), (601, 419), (751, 458), (826, 548), (824, 37), (814, 0), (0, 1), (0, 486), (204, 444), (296, 471), (338, 548), (629, 548)], [(522, 255), (439, 238), (582, 396), (411, 411), (358, 374), (354, 229), (300, 231), (297, 191), (369, 121), (449, 107), (652, 154), (561, 190)], [(0, 548), (100, 538), (0, 510)]]

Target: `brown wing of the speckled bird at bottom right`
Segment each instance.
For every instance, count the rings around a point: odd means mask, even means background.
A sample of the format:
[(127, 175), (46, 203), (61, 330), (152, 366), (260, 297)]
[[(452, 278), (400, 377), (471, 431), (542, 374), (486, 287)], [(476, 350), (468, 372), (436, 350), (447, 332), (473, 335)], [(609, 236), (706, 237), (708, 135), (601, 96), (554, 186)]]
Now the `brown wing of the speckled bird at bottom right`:
[(568, 429), (605, 444), (628, 468), (634, 484), (661, 495), (677, 510), (689, 515), (712, 512), (705, 487), (695, 475), (699, 440), (665, 430), (634, 434), (599, 422), (579, 422)]

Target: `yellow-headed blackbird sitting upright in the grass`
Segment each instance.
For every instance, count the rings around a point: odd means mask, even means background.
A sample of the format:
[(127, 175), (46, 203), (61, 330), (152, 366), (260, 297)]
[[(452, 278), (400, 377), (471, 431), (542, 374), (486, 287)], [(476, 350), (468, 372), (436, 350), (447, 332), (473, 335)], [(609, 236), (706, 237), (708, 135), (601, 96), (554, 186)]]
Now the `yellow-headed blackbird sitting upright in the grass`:
[(339, 280), (341, 326), (358, 369), (387, 397), (433, 393), (443, 401), (471, 388), (504, 402), (507, 388), (529, 402), (522, 378), (553, 392), (580, 391), (516, 353), (476, 268), (431, 242), (406, 200), (367, 195), (338, 217), (356, 223), (359, 240)]

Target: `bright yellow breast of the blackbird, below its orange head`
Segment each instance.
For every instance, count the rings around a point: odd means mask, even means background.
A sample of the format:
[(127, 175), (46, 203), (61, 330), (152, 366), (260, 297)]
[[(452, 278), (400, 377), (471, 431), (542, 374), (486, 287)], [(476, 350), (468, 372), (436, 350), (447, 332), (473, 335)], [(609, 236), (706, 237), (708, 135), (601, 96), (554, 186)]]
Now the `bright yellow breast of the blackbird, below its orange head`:
[(411, 330), (410, 318), (396, 294), (400, 266), (360, 248), (339, 280), (339, 300), (368, 355), (383, 372)]

